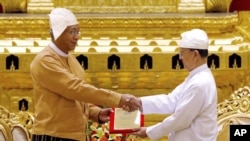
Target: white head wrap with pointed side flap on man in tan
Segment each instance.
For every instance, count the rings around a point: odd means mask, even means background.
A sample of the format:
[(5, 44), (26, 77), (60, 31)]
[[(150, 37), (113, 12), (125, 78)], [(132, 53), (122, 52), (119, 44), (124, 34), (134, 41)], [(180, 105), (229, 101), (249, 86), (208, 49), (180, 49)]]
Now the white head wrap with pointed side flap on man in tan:
[(75, 15), (66, 8), (53, 9), (49, 14), (49, 20), (55, 40), (57, 40), (67, 26), (78, 24)]

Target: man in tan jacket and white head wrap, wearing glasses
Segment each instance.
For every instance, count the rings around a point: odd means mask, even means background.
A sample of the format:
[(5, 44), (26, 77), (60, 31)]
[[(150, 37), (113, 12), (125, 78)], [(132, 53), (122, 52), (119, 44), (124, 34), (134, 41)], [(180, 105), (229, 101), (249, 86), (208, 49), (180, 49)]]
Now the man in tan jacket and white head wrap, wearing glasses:
[[(87, 84), (84, 70), (69, 54), (74, 50), (80, 29), (75, 15), (65, 8), (49, 14), (52, 42), (30, 65), (34, 84), (35, 121), (32, 141), (86, 141), (88, 120), (107, 122), (110, 108), (137, 110), (140, 104), (129, 94), (96, 88)], [(91, 104), (92, 103), (92, 104)], [(124, 108), (126, 109), (126, 108)]]

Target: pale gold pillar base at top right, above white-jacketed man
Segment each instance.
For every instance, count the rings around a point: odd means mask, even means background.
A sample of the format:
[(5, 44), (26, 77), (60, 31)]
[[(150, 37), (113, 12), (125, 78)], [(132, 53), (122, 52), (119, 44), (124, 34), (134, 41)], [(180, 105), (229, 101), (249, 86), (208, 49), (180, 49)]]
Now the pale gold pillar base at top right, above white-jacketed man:
[(205, 13), (204, 0), (180, 0), (179, 13)]

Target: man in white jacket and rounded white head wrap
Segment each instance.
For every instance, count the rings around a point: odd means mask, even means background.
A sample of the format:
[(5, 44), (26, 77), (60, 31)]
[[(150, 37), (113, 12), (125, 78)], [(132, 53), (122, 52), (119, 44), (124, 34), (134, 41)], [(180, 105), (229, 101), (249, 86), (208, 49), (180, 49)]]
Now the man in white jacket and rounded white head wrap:
[(169, 94), (137, 99), (143, 114), (170, 116), (132, 134), (153, 141), (167, 135), (169, 141), (216, 141), (217, 90), (207, 66), (208, 46), (208, 36), (201, 29), (181, 34), (179, 57), (189, 71), (187, 78)]

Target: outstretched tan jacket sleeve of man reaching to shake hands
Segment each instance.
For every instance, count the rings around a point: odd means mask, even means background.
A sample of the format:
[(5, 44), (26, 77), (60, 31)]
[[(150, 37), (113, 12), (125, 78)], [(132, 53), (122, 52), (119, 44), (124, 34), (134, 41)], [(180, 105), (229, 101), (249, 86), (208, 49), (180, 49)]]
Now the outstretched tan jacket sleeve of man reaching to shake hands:
[(31, 75), (36, 83), (55, 94), (70, 100), (108, 107), (119, 105), (121, 94), (87, 84), (52, 55), (43, 56), (39, 62), (34, 64), (33, 69)]

